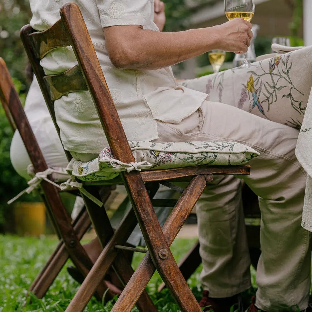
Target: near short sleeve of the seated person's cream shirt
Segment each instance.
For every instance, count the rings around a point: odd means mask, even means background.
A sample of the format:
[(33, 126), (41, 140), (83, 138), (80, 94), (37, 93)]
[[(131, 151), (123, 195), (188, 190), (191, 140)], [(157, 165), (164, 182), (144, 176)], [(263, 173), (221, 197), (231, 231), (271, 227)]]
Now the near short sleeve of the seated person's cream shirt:
[(103, 28), (116, 25), (151, 24), (154, 0), (96, 0), (96, 3)]

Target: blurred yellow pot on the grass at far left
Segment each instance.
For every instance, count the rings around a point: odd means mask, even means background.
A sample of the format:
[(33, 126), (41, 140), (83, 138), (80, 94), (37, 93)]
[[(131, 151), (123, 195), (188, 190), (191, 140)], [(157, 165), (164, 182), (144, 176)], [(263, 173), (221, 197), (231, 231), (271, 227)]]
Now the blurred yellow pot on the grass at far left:
[(45, 233), (46, 213), (43, 202), (17, 202), (14, 206), (15, 229), (20, 236)]

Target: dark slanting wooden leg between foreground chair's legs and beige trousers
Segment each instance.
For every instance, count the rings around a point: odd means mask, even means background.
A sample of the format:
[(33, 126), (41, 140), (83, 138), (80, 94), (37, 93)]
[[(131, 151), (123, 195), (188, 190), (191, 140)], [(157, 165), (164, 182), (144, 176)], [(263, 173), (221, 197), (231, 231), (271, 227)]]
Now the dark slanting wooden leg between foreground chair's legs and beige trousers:
[[(199, 241), (197, 241), (178, 264), (178, 267), (186, 281), (191, 277), (201, 263), (202, 258), (199, 255)], [(161, 283), (158, 286), (158, 292), (161, 292), (164, 288), (166, 288), (165, 283)]]

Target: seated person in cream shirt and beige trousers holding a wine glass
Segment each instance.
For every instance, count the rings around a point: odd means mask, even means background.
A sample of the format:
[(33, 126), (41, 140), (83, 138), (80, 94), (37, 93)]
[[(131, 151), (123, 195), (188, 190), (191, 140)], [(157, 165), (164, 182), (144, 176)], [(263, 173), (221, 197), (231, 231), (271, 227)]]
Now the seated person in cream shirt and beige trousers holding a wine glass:
[[(67, 0), (30, 0), (31, 25), (53, 25)], [(158, 2), (158, 1), (156, 1)], [(244, 53), (251, 24), (234, 19), (214, 27), (159, 32), (153, 0), (77, 0), (119, 117), (129, 140), (184, 142), (229, 140), (261, 152), (243, 177), (259, 196), (261, 250), (256, 302), (250, 312), (311, 311), (310, 232), (301, 227), (306, 174), (295, 157), (299, 131), (236, 107), (208, 100), (205, 93), (176, 84), (171, 65), (212, 49)], [(42, 61), (46, 74), (77, 64), (71, 48), (51, 51)], [(65, 149), (89, 161), (107, 145), (89, 92), (55, 101)], [(217, 176), (198, 202), (204, 289), (202, 306), (230, 309), (251, 286), (250, 259), (242, 214), (240, 181)], [(210, 309), (210, 308), (208, 308)]]

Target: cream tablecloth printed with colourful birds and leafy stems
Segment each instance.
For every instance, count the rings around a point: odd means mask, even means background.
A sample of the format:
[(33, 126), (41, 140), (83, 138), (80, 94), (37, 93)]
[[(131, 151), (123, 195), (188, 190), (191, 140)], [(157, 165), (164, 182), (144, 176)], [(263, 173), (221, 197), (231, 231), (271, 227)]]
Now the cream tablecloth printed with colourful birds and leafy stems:
[(209, 101), (300, 129), (312, 86), (311, 53), (309, 46), (181, 84), (207, 93)]

